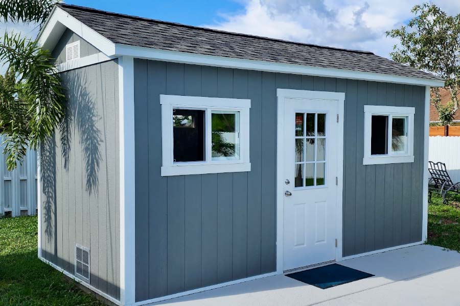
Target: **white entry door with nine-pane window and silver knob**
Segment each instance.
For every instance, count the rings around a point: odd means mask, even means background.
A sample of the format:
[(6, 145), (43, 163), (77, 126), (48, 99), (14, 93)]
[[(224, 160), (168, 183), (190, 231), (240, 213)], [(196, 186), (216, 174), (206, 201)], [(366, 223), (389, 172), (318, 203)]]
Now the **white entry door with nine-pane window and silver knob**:
[(284, 271), (336, 259), (338, 113), (338, 100), (285, 99)]

